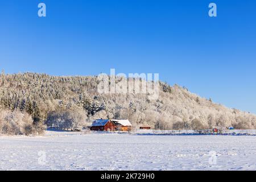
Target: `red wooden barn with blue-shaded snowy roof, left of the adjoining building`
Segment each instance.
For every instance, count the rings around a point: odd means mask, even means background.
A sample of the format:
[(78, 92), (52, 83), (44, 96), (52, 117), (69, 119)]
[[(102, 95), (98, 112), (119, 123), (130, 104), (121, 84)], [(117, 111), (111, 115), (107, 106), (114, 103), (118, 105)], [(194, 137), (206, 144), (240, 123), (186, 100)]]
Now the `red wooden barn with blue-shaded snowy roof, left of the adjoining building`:
[(90, 127), (92, 131), (115, 131), (115, 123), (110, 119), (96, 119)]

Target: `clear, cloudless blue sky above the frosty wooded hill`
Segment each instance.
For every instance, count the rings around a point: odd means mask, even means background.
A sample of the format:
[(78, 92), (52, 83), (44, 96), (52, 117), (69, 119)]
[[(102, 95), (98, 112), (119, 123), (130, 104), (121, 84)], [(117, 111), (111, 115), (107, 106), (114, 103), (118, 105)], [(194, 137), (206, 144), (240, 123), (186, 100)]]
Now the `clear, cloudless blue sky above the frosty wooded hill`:
[[(38, 3), (47, 17), (38, 17)], [(217, 18), (208, 16), (210, 2)], [(5, 0), (0, 69), (50, 75), (159, 73), (256, 113), (255, 0)]]

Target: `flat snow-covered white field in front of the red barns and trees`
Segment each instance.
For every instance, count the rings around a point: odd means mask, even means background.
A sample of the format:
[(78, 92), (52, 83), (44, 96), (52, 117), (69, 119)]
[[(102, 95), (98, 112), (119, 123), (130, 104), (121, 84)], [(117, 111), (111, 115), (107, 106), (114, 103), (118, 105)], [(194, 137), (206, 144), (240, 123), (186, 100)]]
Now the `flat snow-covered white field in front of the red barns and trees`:
[(0, 170), (197, 169), (256, 170), (256, 137), (57, 131), (0, 137)]

